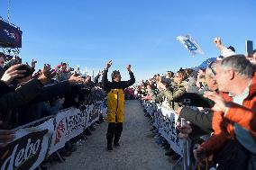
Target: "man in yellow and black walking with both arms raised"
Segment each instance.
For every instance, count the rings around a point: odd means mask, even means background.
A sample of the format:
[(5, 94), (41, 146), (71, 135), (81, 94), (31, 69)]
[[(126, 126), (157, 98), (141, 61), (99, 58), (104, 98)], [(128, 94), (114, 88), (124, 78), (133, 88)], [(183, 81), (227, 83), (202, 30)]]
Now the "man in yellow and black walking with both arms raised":
[(111, 67), (111, 61), (106, 63), (106, 68), (103, 73), (102, 81), (104, 84), (105, 92), (107, 94), (107, 121), (108, 129), (106, 132), (107, 150), (112, 151), (112, 144), (114, 139), (114, 147), (120, 148), (119, 139), (123, 131), (123, 113), (124, 113), (124, 94), (123, 91), (135, 83), (131, 65), (126, 68), (130, 75), (130, 80), (121, 81), (121, 75), (118, 70), (114, 70), (111, 77), (112, 82), (107, 80), (108, 68)]

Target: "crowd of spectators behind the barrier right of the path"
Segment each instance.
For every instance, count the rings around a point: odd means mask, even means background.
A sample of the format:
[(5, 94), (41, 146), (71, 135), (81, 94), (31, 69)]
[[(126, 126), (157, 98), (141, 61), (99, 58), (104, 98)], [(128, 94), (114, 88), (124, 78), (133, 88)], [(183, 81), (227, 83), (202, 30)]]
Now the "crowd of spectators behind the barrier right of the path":
[[(256, 50), (245, 56), (235, 54), (232, 46), (224, 47), (220, 38), (214, 43), (221, 56), (206, 68), (157, 74), (142, 80), (135, 94), (145, 101), (167, 102), (178, 114), (179, 138), (199, 144), (191, 155), (201, 169), (206, 162), (214, 162), (217, 169), (255, 170)], [(182, 127), (181, 118), (187, 121)], [(166, 155), (177, 160), (168, 142), (163, 144), (169, 149)]]

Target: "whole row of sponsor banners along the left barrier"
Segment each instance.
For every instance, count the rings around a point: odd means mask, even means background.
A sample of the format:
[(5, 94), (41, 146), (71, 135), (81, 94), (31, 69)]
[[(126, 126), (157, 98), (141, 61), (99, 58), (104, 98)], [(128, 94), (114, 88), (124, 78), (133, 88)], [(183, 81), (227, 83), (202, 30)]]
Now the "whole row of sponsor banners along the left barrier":
[(38, 126), (15, 132), (15, 139), (0, 148), (0, 170), (33, 170), (41, 164), (47, 152), (51, 155), (98, 120), (102, 103), (87, 106), (85, 111), (75, 107), (59, 111), (55, 118)]

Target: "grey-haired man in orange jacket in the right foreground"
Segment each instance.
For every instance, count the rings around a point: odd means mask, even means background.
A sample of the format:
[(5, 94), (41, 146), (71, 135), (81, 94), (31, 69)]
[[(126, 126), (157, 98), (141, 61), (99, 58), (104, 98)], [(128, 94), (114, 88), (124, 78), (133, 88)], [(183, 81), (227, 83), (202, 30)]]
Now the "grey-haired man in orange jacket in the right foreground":
[(205, 93), (205, 97), (215, 102), (212, 108), (215, 111), (212, 122), (214, 134), (194, 150), (197, 161), (212, 154), (224, 153), (223, 150), (228, 147), (225, 149), (228, 154), (225, 152), (225, 157), (218, 162), (218, 169), (256, 169), (254, 71), (243, 55), (224, 58), (217, 64), (215, 80), (221, 92)]

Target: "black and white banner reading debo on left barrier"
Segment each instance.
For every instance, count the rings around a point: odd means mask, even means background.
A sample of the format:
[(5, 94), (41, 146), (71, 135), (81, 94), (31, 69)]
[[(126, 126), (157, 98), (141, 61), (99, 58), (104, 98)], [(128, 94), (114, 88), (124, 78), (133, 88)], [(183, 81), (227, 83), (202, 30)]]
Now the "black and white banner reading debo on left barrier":
[(53, 118), (32, 128), (17, 130), (15, 139), (0, 148), (1, 170), (33, 170), (41, 164), (49, 148)]

